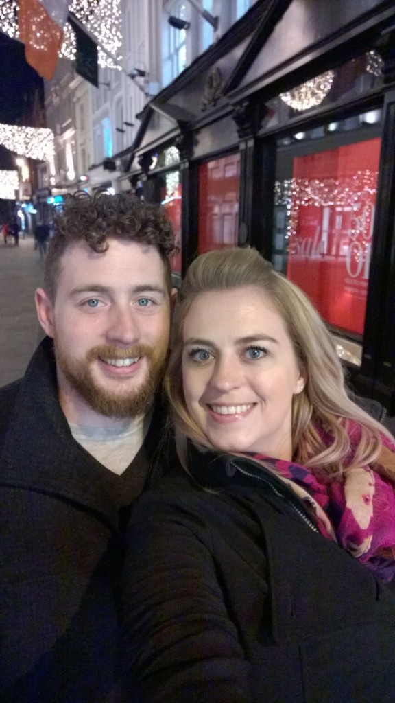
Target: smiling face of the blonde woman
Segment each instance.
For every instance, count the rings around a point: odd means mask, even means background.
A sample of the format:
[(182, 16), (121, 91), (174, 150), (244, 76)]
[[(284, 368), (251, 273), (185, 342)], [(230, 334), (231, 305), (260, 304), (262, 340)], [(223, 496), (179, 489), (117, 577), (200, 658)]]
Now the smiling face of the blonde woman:
[(292, 458), (299, 370), (283, 318), (255, 287), (198, 295), (183, 325), (183, 389), (217, 449)]

